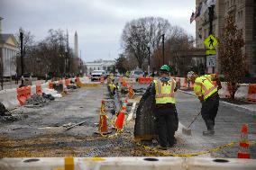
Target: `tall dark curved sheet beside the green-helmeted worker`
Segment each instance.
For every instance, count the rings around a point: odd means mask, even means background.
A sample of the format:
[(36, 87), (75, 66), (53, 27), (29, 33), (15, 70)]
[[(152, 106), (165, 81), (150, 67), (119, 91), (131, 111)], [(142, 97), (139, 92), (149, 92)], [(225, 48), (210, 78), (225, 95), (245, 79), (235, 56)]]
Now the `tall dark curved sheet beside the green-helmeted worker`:
[(152, 140), (157, 139), (157, 129), (155, 116), (153, 112), (155, 99), (152, 96), (141, 100), (137, 111), (134, 126), (135, 140)]

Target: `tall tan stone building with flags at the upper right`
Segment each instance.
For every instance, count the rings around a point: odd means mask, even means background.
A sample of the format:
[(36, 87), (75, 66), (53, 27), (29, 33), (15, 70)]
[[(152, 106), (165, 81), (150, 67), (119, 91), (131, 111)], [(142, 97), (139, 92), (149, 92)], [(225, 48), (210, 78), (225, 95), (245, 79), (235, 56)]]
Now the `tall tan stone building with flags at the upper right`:
[[(197, 7), (206, 0), (196, 0)], [(242, 29), (244, 38), (244, 53), (247, 58), (249, 73), (256, 76), (256, 0), (215, 0), (215, 16), (213, 19), (213, 35), (221, 36), (224, 29), (224, 17), (233, 14), (238, 29)], [(196, 22), (196, 47), (206, 48), (203, 41), (209, 36), (209, 16), (206, 12)], [(216, 59), (218, 51), (216, 51)], [(212, 67), (207, 67), (208, 72), (213, 72)], [(216, 60), (215, 72), (220, 67)]]

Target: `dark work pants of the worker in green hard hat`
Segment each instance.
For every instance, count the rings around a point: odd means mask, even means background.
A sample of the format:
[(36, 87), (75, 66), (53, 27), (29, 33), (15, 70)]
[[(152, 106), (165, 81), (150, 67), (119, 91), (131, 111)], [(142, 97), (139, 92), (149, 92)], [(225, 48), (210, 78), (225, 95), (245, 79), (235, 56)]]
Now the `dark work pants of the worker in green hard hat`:
[(174, 133), (177, 129), (178, 117), (176, 117), (175, 106), (171, 108), (155, 109), (157, 131), (161, 147), (169, 147), (174, 144)]

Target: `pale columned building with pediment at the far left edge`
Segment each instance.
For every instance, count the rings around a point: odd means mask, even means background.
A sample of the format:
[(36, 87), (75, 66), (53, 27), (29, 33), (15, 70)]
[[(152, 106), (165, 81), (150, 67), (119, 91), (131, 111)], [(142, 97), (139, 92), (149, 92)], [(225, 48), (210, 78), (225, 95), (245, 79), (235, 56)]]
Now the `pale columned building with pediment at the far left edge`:
[(0, 71), (3, 75), (14, 76), (16, 74), (16, 55), (18, 52), (18, 42), (13, 34), (2, 33), (0, 17)]

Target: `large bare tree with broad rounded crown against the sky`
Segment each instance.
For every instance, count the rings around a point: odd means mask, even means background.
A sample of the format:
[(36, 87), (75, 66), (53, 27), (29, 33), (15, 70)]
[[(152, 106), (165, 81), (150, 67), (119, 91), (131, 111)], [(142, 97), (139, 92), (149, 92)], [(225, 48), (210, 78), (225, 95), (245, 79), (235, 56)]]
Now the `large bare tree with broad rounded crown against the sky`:
[(132, 22), (127, 22), (123, 28), (122, 47), (123, 54), (128, 58), (135, 57), (138, 67), (142, 68), (143, 62), (148, 57), (148, 49), (158, 48), (160, 35), (169, 35), (170, 24), (160, 17), (145, 17)]

